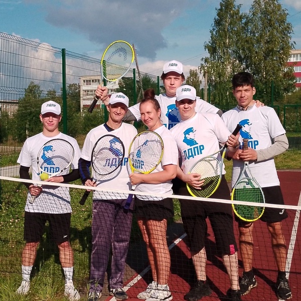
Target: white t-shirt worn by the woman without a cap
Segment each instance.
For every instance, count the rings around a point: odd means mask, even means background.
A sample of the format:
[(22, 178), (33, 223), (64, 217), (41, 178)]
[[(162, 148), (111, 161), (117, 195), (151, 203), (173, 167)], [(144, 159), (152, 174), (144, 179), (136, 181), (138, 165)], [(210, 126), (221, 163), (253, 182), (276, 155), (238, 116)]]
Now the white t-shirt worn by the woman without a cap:
[[(157, 168), (152, 172), (159, 173), (162, 172), (165, 165), (178, 165), (178, 148), (175, 139), (171, 135), (170, 131), (165, 126), (160, 126), (155, 130), (157, 134), (159, 134), (163, 140), (164, 144), (164, 152), (161, 163), (157, 166)], [(141, 192), (149, 192), (158, 193), (158, 194), (173, 194), (172, 190), (172, 181), (168, 181), (161, 184), (146, 184), (141, 183), (137, 184), (135, 191)], [(139, 196), (137, 198), (140, 200), (149, 200), (149, 197)], [(152, 200), (162, 200), (163, 198), (152, 197)]]

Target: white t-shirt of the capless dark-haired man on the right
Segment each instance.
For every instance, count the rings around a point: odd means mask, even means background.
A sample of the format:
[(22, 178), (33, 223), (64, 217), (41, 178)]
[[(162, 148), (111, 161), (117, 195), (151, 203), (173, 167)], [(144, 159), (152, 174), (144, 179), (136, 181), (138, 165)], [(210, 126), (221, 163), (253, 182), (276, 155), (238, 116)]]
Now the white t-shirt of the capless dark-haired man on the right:
[[(249, 139), (249, 147), (253, 149), (264, 149), (272, 145), (271, 138), (285, 133), (283, 126), (273, 108), (263, 106), (257, 108), (255, 105), (249, 110), (243, 111), (238, 107), (225, 112), (222, 115), (230, 131), (234, 130), (237, 123), (243, 128), (240, 130), (239, 141)], [(233, 160), (232, 187), (236, 183), (244, 162)], [(252, 176), (261, 187), (280, 185), (273, 159), (262, 162), (249, 162)]]

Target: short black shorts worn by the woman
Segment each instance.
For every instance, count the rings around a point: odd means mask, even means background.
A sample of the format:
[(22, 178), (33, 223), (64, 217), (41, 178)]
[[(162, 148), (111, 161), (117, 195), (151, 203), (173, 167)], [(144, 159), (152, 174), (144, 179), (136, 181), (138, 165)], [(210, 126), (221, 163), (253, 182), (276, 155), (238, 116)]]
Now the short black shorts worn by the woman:
[(136, 217), (146, 220), (167, 220), (175, 215), (174, 203), (171, 198), (160, 201), (142, 201), (135, 197), (135, 214)]

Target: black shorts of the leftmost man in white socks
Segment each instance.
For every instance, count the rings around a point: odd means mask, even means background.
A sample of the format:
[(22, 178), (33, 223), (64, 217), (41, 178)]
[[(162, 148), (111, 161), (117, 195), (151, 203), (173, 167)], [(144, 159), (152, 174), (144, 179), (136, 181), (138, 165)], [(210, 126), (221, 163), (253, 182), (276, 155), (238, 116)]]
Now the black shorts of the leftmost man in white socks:
[(39, 242), (43, 236), (46, 222), (49, 222), (50, 238), (57, 244), (69, 240), (71, 213), (50, 214), (25, 211), (24, 240)]

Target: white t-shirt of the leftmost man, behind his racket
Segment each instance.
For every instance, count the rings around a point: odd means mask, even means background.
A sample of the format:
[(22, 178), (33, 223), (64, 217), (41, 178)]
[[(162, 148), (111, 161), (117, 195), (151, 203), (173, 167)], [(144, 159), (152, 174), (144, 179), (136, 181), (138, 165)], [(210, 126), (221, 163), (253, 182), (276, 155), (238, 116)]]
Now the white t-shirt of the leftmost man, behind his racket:
[[(64, 139), (71, 143), (74, 148), (74, 158), (71, 164), (71, 169), (78, 168), (78, 160), (80, 158), (80, 149), (76, 140), (63, 133), (59, 133), (54, 137), (46, 137), (43, 133), (28, 138), (21, 150), (18, 158), (18, 163), (25, 167), (32, 167), (33, 180), (40, 181), (40, 170), (37, 166), (37, 156), (41, 147), (52, 139)], [(62, 175), (69, 173), (67, 169)], [(42, 193), (35, 199), (34, 203), (29, 202), (30, 193), (27, 196), (25, 211), (41, 212), (41, 213), (68, 213), (72, 212), (70, 206), (70, 194), (67, 187), (59, 186), (44, 186)]]

